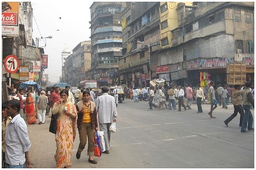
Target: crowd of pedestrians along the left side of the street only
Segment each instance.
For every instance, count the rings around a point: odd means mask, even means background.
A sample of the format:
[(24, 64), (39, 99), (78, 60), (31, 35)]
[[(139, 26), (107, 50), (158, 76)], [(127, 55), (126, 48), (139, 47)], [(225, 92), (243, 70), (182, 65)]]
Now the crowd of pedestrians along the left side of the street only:
[[(88, 161), (97, 164), (93, 159), (94, 136), (98, 130), (104, 131), (105, 150), (110, 153), (111, 131), (110, 125), (116, 122), (116, 102), (113, 96), (108, 95), (108, 87), (102, 87), (102, 95), (96, 99), (91, 89), (81, 89), (76, 94), (81, 94), (81, 101), (75, 105), (70, 87), (60, 91), (58, 86), (52, 87), (52, 91), (39, 89), (36, 95), (28, 91), (25, 108), (23, 109), (24, 90), (20, 89), (16, 99), (2, 103), (2, 168), (23, 168), (24, 165), (31, 168), (29, 160), (29, 148), (31, 143), (27, 131), (27, 124), (36, 124), (36, 109), (38, 107), (38, 125), (45, 123), (47, 105), (50, 105), (49, 117), (57, 115), (57, 132), (55, 134), (56, 153), (54, 159), (57, 168), (70, 168), (72, 164), (72, 150), (76, 138), (76, 130), (79, 132), (80, 144), (76, 158), (80, 159), (81, 152), (88, 141)], [(81, 89), (81, 90), (80, 90)], [(82, 91), (82, 92), (81, 92)], [(35, 94), (33, 96), (32, 94)], [(46, 95), (47, 94), (47, 95)], [(93, 95), (94, 94), (94, 95)], [(35, 106), (37, 103), (37, 106)], [(111, 107), (110, 107), (111, 106)], [(22, 111), (21, 111), (22, 110)], [(26, 113), (26, 122), (21, 117), (23, 110)], [(99, 117), (99, 119), (97, 119)]]

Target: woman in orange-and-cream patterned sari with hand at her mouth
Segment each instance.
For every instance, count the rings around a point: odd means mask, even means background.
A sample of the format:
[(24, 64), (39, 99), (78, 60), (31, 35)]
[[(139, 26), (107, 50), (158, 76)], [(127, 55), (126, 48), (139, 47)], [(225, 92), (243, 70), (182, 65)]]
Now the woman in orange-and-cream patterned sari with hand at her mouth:
[[(54, 158), (56, 168), (70, 168), (76, 138), (77, 111), (76, 106), (67, 101), (68, 91), (62, 90), (60, 94), (61, 99), (55, 102), (52, 108), (52, 114), (58, 114), (57, 133), (55, 134), (57, 149)], [(64, 107), (67, 107), (67, 111), (64, 111)]]

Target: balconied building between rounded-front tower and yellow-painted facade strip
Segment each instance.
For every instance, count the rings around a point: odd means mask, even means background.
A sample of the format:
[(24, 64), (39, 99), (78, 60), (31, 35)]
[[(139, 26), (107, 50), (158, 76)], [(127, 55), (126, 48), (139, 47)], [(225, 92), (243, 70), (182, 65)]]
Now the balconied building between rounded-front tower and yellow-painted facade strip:
[(160, 49), (159, 2), (126, 2), (122, 15), (123, 57), (119, 59), (121, 84), (149, 86), (157, 78), (157, 50)]

